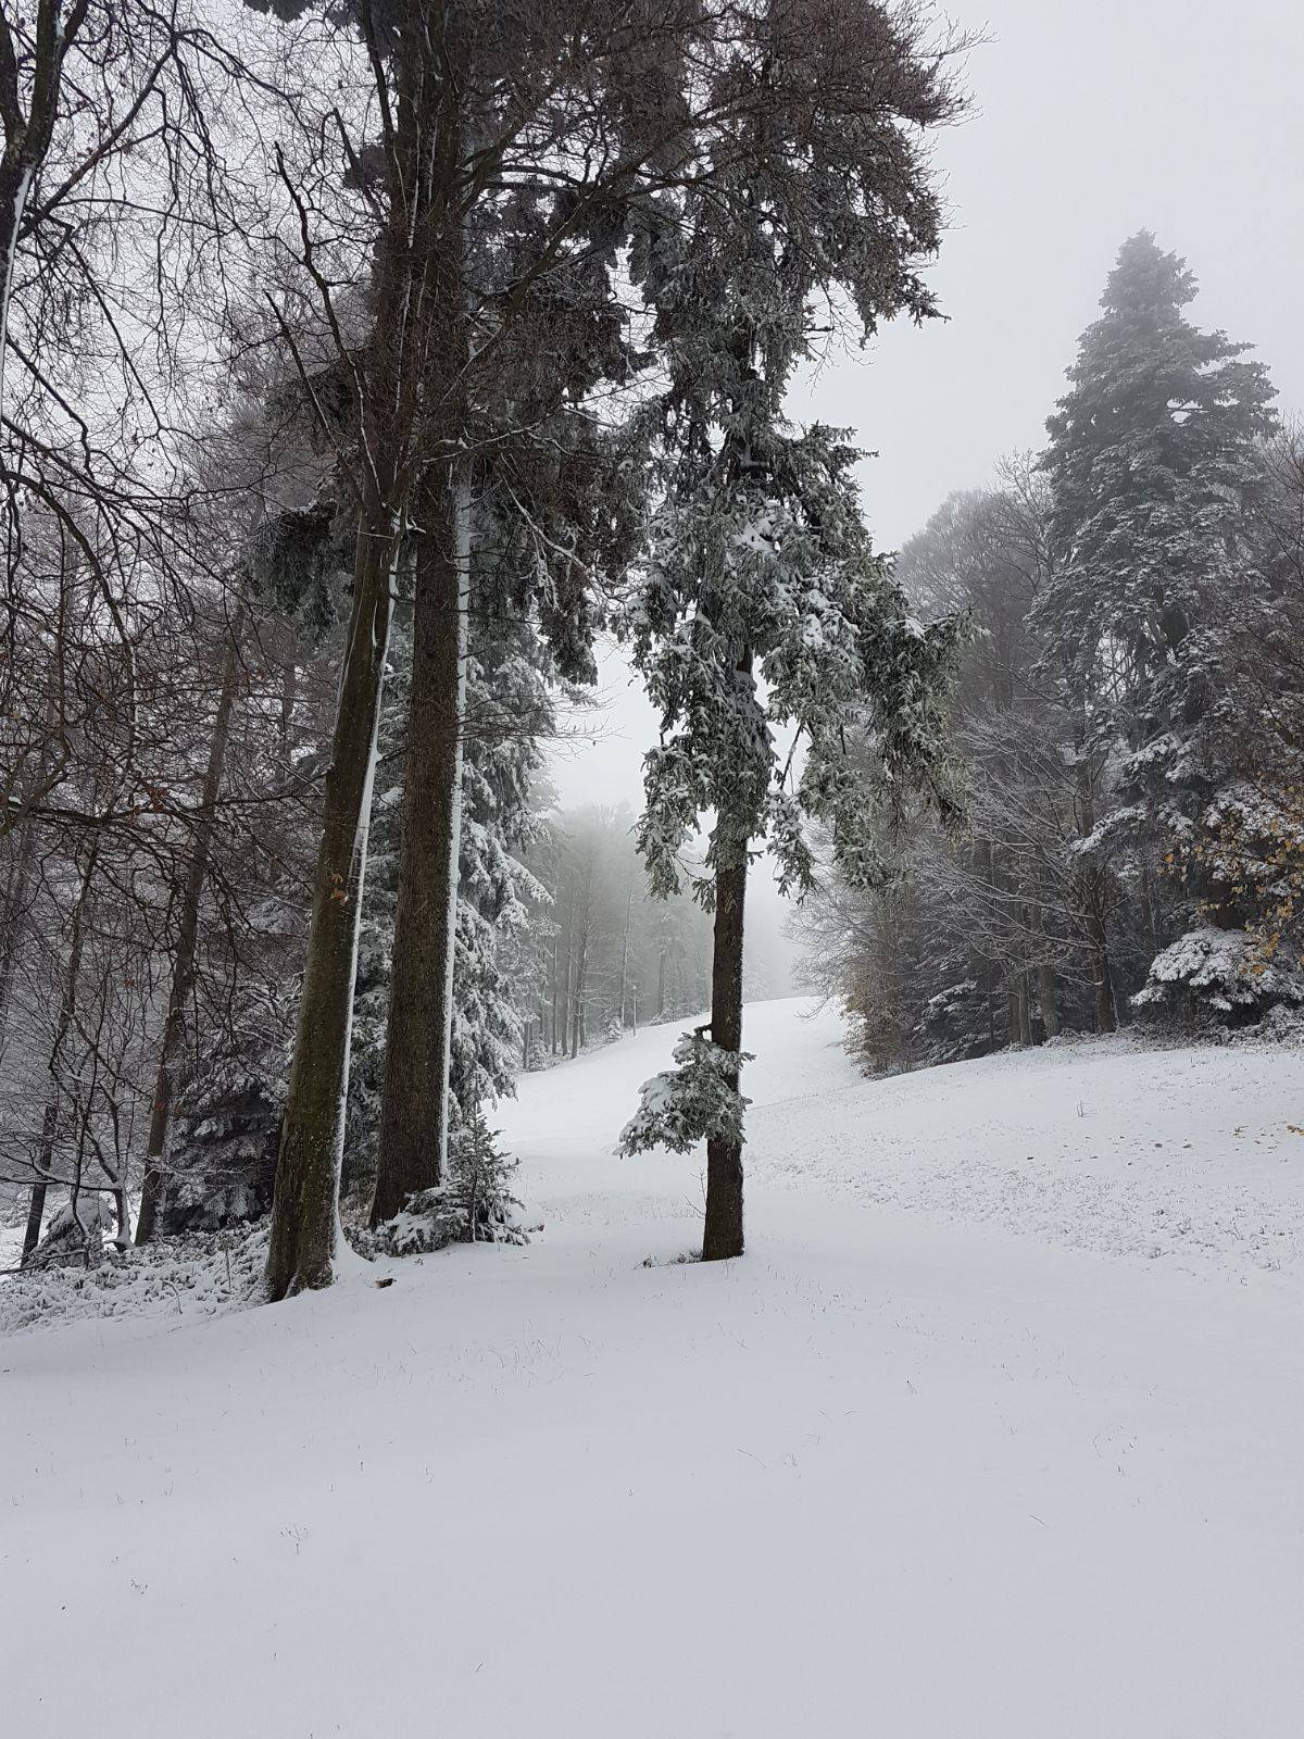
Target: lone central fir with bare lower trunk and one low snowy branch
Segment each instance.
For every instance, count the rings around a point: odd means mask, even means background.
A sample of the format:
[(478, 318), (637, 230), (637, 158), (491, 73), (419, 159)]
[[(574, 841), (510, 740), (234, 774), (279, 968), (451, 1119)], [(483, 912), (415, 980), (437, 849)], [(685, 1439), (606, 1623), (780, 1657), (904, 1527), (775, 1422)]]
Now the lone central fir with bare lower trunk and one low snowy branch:
[(682, 1040), (678, 1071), (647, 1083), (622, 1149), (706, 1139), (708, 1261), (742, 1252), (753, 843), (767, 838), (781, 885), (800, 890), (812, 870), (802, 817), (819, 817), (842, 871), (875, 880), (883, 809), (920, 786), (949, 802), (956, 628), (908, 614), (861, 518), (855, 454), (829, 430), (793, 430), (782, 402), (817, 294), (843, 287), (866, 332), (934, 311), (916, 261), (937, 243), (939, 212), (915, 136), (955, 99), (878, 7), (835, 40), (795, 33), (779, 9), (768, 19), (763, 113), (739, 122), (732, 167), (635, 252), (671, 374), (657, 407), (666, 499), (628, 619), (661, 711), (640, 847), (654, 892), (673, 890), (685, 840), (713, 814), (701, 894), (715, 955), (709, 1026)]

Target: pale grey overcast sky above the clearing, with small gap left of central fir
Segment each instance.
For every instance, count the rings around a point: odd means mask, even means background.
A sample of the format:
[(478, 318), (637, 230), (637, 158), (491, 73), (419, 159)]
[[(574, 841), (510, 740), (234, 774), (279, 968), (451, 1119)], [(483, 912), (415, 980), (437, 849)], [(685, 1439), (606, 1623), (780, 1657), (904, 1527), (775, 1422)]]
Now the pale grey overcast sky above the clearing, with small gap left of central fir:
[[(1038, 447), (1118, 245), (1149, 228), (1188, 257), (1194, 318), (1257, 346), (1304, 410), (1304, 3), (986, 0), (948, 9), (988, 42), (974, 108), (937, 144), (948, 315), (835, 355), (793, 416), (857, 431), (869, 523), (895, 548), (995, 461)], [(589, 746), (562, 750), (563, 805), (636, 807), (655, 722), (615, 657)]]

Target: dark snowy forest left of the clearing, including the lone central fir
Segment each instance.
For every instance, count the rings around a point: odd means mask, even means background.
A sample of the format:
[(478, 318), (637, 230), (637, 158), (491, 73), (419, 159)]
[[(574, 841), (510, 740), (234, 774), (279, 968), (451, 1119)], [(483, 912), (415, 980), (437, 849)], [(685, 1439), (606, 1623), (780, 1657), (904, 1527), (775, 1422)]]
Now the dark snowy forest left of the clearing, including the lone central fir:
[[(821, 308), (935, 313), (961, 47), (861, 0), (5, 12), (24, 1263), (269, 1212), (276, 1299), (341, 1193), (363, 1247), (497, 1235), (513, 1075), (685, 1014), (629, 1141), (709, 1137), (741, 1252), (749, 861), (808, 887), (814, 823), (868, 885), (908, 791), (955, 807), (958, 619), (784, 402)], [(546, 796), (600, 633), (640, 817)]]

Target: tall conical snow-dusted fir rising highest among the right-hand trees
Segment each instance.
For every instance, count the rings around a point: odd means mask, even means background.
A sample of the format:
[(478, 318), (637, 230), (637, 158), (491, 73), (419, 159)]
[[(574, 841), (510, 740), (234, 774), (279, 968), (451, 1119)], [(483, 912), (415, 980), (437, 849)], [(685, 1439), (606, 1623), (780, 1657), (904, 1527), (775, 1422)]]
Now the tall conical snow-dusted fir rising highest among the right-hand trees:
[(1033, 610), (1074, 720), (1076, 762), (1111, 769), (1101, 807), (1080, 802), (1094, 908), (1097, 1026), (1113, 1026), (1108, 852), (1135, 864), (1142, 930), (1158, 944), (1151, 873), (1191, 842), (1215, 796), (1208, 734), (1231, 621), (1261, 584), (1252, 504), (1264, 487), (1273, 386), (1248, 346), (1201, 332), (1196, 282), (1148, 231), (1123, 243), (1048, 419), (1052, 570)]

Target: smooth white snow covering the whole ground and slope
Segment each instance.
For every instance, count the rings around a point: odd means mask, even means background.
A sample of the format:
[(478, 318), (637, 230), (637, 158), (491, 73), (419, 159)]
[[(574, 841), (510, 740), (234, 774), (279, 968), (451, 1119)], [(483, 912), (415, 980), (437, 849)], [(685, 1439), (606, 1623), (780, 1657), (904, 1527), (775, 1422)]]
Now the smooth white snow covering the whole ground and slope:
[(673, 1040), (501, 1109), (525, 1249), (0, 1341), (7, 1739), (1304, 1732), (1304, 1056), (753, 1005), (701, 1266)]

